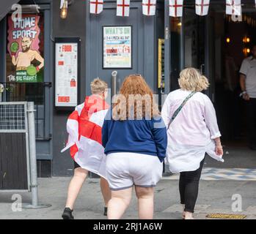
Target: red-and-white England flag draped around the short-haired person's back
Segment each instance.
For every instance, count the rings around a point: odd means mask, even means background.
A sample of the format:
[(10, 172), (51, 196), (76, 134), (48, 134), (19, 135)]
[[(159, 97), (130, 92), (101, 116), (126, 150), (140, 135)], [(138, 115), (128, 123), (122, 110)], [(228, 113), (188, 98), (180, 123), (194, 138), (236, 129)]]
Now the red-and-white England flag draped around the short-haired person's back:
[(106, 178), (106, 155), (101, 142), (101, 128), (109, 105), (100, 97), (86, 97), (67, 119), (67, 145), (74, 161), (92, 173)]

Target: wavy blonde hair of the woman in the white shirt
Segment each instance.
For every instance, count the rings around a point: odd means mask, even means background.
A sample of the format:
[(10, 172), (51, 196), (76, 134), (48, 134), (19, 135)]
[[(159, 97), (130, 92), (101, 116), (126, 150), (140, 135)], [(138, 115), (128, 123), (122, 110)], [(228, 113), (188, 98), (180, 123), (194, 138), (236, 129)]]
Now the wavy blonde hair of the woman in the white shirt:
[(187, 91), (203, 91), (210, 86), (208, 78), (193, 67), (183, 69), (178, 82), (180, 88)]

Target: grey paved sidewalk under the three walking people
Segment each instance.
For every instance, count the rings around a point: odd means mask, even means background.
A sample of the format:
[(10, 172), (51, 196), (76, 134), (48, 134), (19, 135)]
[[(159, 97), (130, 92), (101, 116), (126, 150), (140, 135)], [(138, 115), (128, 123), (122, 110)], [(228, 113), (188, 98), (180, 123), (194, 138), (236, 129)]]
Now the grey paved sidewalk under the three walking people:
[[(60, 219), (65, 205), (70, 178), (39, 178), (40, 202), (51, 203), (51, 208), (12, 211), (13, 192), (0, 192), (0, 219)], [(23, 203), (31, 201), (28, 192), (20, 194)], [(233, 195), (242, 197), (242, 212), (232, 212)], [(196, 219), (207, 214), (244, 214), (246, 219), (256, 219), (256, 181), (201, 181), (195, 212)], [(156, 187), (155, 219), (180, 219), (178, 180), (164, 179)], [(98, 178), (89, 178), (84, 184), (73, 212), (76, 219), (106, 219)], [(124, 219), (137, 219), (136, 199), (125, 213)]]

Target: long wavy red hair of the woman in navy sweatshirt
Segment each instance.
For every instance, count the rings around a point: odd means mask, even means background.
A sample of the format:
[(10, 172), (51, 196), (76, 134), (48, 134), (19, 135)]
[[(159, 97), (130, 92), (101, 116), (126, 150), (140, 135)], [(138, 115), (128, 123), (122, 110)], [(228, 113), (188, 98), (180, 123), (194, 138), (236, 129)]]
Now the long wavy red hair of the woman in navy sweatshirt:
[(125, 78), (112, 107), (114, 120), (151, 119), (159, 115), (153, 91), (141, 75)]

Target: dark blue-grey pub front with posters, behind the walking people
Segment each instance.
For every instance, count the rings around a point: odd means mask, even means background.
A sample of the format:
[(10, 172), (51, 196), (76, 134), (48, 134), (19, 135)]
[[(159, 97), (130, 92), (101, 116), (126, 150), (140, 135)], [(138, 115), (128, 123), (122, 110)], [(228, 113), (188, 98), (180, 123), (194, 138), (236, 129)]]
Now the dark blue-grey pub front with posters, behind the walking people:
[[(13, 23), (13, 4), (21, 5), (26, 20)], [(65, 125), (67, 116), (89, 94), (89, 83), (94, 78), (100, 77), (109, 88), (118, 90), (126, 75), (141, 74), (156, 94), (168, 94), (178, 88), (181, 69), (196, 67), (210, 80), (208, 96), (214, 103), (222, 102), (224, 91), (218, 87), (227, 79), (223, 71), (227, 39), (238, 37), (235, 29), (241, 30), (242, 37), (256, 39), (255, 1), (242, 4), (241, 18), (226, 15), (226, 1), (214, 0), (208, 14), (200, 16), (195, 12), (195, 1), (184, 0), (183, 15), (170, 17), (169, 1), (156, 1), (155, 14), (143, 15), (142, 0), (131, 0), (129, 16), (122, 17), (117, 16), (117, 1), (104, 0), (103, 11), (92, 14), (89, 1), (71, 0), (67, 1), (67, 17), (63, 19), (59, 0), (1, 1), (1, 100), (34, 101), (37, 107), (38, 176), (73, 174), (69, 153), (60, 153), (67, 140)], [(125, 38), (122, 48), (117, 37)], [(25, 73), (26, 64), (18, 58), (19, 46), (23, 45), (34, 50), (32, 67)], [(111, 56), (118, 48), (122, 49), (121, 55)], [(241, 53), (232, 49), (228, 53), (239, 64), (249, 53), (249, 44), (239, 41), (235, 48)], [(65, 57), (71, 50), (74, 53)], [(63, 56), (75, 66), (66, 71), (68, 82), (63, 81), (65, 71), (59, 68), (62, 61), (58, 59)], [(114, 71), (117, 82), (113, 84)], [(222, 110), (219, 113), (226, 116)], [(221, 123), (223, 129), (225, 123)], [(228, 138), (229, 130), (224, 132)]]

